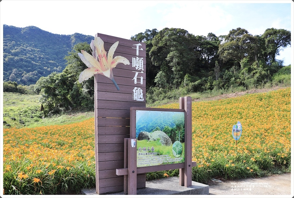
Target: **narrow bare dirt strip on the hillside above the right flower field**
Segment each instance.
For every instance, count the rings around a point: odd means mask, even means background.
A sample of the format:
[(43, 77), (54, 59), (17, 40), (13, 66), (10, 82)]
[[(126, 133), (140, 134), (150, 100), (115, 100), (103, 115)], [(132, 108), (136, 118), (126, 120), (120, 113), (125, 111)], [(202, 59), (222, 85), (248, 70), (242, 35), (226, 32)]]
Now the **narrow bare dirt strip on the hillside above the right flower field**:
[(222, 94), (222, 95), (219, 95), (219, 96), (214, 96), (214, 97), (209, 97), (209, 98), (192, 99), (192, 102), (207, 101), (207, 100), (220, 100), (220, 99), (243, 96), (245, 94), (263, 93), (263, 92), (275, 91), (275, 90), (284, 89), (284, 88), (286, 88), (286, 87), (275, 86), (275, 87), (270, 87), (268, 89), (250, 89), (250, 90), (247, 90), (247, 91), (235, 92), (235, 93), (231, 93), (231, 94)]

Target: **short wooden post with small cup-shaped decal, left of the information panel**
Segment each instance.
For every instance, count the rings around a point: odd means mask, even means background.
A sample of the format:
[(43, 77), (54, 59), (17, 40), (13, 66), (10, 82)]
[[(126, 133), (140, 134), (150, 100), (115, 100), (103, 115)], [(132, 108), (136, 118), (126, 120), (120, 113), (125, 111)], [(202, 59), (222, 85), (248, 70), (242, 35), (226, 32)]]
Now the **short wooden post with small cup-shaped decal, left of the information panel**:
[(137, 194), (137, 142), (133, 147), (128, 139), (128, 194)]

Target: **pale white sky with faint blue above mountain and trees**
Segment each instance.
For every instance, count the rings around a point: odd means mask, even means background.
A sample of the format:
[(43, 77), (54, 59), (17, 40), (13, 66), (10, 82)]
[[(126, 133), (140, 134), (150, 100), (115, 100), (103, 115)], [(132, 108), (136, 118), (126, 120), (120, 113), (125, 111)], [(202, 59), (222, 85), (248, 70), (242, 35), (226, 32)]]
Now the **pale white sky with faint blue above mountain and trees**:
[[(36, 26), (54, 34), (102, 33), (124, 39), (146, 29), (159, 31), (165, 27), (182, 28), (203, 36), (210, 32), (227, 35), (231, 29), (241, 27), (259, 35), (272, 27), (293, 32), (291, 7), (292, 0), (2, 0), (0, 23), (1, 30), (3, 24)], [(289, 65), (294, 54), (291, 48), (280, 54), (277, 59), (284, 59), (284, 65)]]

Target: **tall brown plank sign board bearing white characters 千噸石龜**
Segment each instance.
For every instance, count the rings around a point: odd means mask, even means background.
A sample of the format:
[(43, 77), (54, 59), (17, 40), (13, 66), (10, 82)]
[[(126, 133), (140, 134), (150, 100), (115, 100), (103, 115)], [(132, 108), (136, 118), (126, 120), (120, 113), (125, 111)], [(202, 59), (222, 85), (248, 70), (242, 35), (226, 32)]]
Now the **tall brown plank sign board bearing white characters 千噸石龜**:
[[(97, 33), (108, 53), (119, 41), (113, 54), (123, 56), (129, 65), (118, 64), (113, 82), (100, 74), (94, 76), (95, 89), (95, 157), (96, 193), (123, 191), (124, 176), (116, 169), (124, 168), (124, 139), (130, 137), (130, 108), (146, 107), (146, 44)], [(137, 175), (137, 187), (145, 187), (146, 174)]]

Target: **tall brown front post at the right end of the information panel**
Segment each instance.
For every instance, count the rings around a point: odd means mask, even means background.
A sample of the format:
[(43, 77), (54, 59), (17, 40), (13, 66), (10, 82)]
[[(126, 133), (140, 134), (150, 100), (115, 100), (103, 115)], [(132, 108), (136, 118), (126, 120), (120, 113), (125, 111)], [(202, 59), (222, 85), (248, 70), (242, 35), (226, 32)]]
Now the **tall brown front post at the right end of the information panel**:
[(185, 97), (185, 187), (192, 186), (192, 98)]

